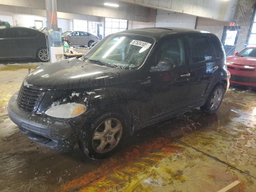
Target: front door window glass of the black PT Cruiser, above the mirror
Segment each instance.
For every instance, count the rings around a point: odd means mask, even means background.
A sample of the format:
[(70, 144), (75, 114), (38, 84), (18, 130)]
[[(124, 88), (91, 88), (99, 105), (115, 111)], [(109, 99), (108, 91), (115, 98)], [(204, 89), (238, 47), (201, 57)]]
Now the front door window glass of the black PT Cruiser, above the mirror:
[(185, 48), (182, 38), (172, 39), (161, 45), (156, 51), (156, 63), (162, 60), (170, 61), (174, 67), (185, 64)]

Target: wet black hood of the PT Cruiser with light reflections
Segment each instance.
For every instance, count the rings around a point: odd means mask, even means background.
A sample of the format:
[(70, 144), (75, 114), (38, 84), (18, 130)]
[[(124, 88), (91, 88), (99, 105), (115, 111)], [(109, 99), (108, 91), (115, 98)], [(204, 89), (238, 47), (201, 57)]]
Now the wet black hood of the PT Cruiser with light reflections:
[(138, 70), (110, 68), (71, 58), (34, 70), (26, 76), (24, 85), (38, 90), (68, 90), (131, 82), (138, 76)]

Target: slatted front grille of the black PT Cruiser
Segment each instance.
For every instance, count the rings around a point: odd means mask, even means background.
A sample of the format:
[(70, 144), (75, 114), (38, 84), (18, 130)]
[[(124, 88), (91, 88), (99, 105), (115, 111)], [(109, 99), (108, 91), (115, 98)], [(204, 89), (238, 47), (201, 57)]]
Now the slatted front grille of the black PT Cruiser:
[(43, 95), (41, 90), (27, 88), (22, 84), (18, 93), (17, 105), (22, 110), (35, 113)]

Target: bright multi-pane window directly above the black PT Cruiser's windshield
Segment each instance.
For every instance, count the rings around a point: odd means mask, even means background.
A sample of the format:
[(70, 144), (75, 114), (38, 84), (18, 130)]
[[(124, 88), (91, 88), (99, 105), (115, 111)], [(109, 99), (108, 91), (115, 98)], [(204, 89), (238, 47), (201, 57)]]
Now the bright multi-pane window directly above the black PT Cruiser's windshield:
[(105, 36), (127, 29), (127, 20), (105, 18)]

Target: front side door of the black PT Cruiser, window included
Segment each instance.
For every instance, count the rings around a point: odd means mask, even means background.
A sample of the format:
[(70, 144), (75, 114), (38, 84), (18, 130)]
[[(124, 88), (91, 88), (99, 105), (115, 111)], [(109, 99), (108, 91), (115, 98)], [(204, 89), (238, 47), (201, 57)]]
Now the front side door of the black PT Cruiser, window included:
[(172, 38), (160, 42), (151, 58), (151, 67), (158, 68), (160, 61), (167, 61), (171, 70), (151, 70), (148, 84), (142, 85), (141, 124), (148, 125), (170, 118), (187, 110), (189, 98), (189, 64), (184, 38)]

